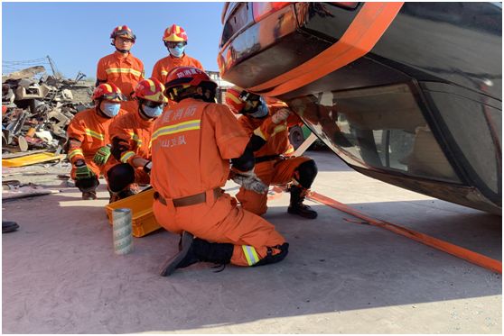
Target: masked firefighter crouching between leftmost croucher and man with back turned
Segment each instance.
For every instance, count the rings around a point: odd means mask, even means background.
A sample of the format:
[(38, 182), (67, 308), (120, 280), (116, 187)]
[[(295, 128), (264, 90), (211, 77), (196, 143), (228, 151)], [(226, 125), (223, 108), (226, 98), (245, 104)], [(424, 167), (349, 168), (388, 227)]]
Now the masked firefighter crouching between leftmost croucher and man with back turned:
[(121, 115), (110, 125), (112, 157), (106, 168), (110, 203), (134, 195), (132, 184), (150, 183), (154, 121), (168, 102), (163, 84), (155, 78), (138, 82), (133, 96), (138, 101), (138, 110)]

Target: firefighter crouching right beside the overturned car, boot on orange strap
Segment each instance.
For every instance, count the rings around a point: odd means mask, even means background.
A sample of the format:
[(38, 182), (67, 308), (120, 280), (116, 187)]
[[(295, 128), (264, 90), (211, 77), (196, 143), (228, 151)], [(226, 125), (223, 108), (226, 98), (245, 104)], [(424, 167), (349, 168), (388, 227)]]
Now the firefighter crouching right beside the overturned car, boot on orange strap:
[[(226, 104), (235, 114), (242, 114), (238, 123), (249, 135), (257, 135), (264, 140), (259, 150), (254, 152), (255, 172), (266, 185), (290, 186), (291, 201), (288, 213), (314, 219), (317, 213), (303, 204), (308, 189), (317, 176), (315, 161), (308, 157), (288, 157), (292, 145), (289, 142), (289, 127), (302, 123), (292, 114), (286, 104), (266, 104), (264, 98), (241, 87), (234, 86), (226, 92)], [(267, 195), (250, 192), (241, 187), (238, 201), (244, 209), (256, 213), (266, 213)]]

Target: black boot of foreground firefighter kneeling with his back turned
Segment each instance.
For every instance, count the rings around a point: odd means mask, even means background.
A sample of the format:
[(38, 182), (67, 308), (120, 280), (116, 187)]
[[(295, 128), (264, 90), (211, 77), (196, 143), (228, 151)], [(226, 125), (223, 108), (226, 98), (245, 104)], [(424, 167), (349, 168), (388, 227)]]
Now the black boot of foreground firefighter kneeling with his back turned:
[(182, 250), (166, 260), (160, 275), (168, 277), (177, 268), (187, 268), (199, 261), (209, 261), (217, 264), (229, 264), (233, 255), (233, 244), (210, 243), (200, 238), (194, 238), (191, 233), (182, 233)]

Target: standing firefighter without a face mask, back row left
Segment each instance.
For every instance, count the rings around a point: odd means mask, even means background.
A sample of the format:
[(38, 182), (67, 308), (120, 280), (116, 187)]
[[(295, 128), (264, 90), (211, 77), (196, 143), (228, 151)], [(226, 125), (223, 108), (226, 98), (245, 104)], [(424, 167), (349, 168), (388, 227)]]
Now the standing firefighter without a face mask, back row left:
[(115, 84), (127, 98), (121, 108), (136, 113), (136, 102), (131, 95), (145, 74), (144, 63), (131, 53), (136, 36), (128, 26), (120, 25), (110, 33), (110, 39), (116, 51), (98, 60), (97, 86), (100, 83)]

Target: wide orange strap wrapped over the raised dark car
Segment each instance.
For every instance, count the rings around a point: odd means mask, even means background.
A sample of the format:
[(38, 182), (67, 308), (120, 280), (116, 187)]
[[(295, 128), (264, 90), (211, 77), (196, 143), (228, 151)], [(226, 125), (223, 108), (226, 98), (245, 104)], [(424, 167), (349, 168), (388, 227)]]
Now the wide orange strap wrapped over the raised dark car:
[[(284, 74), (248, 90), (282, 95), (350, 64), (373, 49), (404, 3), (365, 3), (341, 39), (320, 54)], [(270, 90), (269, 92), (261, 92)]]

